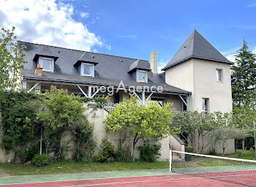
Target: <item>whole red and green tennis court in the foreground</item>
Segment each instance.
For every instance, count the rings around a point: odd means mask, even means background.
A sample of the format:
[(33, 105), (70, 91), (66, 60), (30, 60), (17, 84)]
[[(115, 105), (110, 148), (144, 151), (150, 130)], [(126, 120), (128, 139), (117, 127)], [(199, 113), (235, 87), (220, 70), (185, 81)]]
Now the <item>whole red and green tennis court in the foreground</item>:
[[(185, 158), (214, 161), (214, 167), (173, 167), (173, 153)], [(210, 162), (210, 163), (211, 163)], [(219, 165), (218, 165), (219, 164)], [(171, 171), (171, 172), (170, 172)], [(26, 175), (0, 178), (8, 187), (80, 187), (80, 186), (256, 186), (256, 161), (208, 156), (180, 151), (170, 152), (170, 169), (142, 169), (112, 172), (88, 172), (62, 175)]]

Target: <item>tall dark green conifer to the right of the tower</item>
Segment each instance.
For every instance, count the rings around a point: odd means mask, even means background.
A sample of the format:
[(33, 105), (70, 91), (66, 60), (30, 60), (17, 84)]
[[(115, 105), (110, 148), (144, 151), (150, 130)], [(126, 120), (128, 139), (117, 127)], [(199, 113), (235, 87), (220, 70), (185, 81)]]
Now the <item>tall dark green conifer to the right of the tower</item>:
[(233, 104), (239, 107), (249, 105), (256, 97), (256, 56), (248, 49), (244, 40), (243, 47), (237, 51), (236, 63), (231, 67)]

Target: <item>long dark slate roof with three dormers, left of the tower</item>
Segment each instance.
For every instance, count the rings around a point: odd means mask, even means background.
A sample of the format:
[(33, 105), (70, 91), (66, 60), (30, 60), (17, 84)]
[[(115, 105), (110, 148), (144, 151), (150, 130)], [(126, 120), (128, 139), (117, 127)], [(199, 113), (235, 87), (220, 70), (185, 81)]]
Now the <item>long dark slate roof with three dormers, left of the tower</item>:
[[(126, 58), (121, 56), (110, 56), (100, 53), (91, 53), (82, 50), (71, 50), (63, 47), (53, 47), (49, 45), (39, 45), (30, 42), (24, 43), (26, 47), (23, 50), (25, 60), (29, 63), (25, 64), (24, 69), (21, 70), (21, 75), (24, 79), (30, 80), (50, 80), (65, 83), (84, 83), (84, 84), (97, 84), (97, 85), (115, 85), (123, 81), (125, 86), (158, 86), (162, 85), (165, 92), (170, 93), (190, 93), (181, 88), (176, 88), (172, 85), (165, 83), (164, 74), (154, 75), (151, 71), (148, 72), (148, 83), (137, 83), (136, 78), (129, 74), (131, 64), (138, 59)], [(46, 54), (50, 52), (50, 56), (58, 57), (54, 64), (54, 72), (42, 72), (42, 76), (34, 75), (34, 69), (37, 62), (33, 61), (35, 54)], [(83, 55), (85, 54), (85, 55)], [(80, 76), (78, 66), (74, 66), (80, 57), (86, 61), (86, 57), (91, 61), (97, 62), (95, 66), (94, 77)], [(137, 67), (141, 67), (140, 63), (145, 68), (149, 67), (148, 61), (139, 60)]]

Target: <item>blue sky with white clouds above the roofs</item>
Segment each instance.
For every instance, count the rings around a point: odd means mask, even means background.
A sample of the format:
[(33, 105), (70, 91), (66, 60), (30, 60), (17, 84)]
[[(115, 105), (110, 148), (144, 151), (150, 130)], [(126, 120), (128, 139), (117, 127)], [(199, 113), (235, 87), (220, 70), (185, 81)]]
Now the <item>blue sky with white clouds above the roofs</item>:
[(230, 61), (243, 38), (256, 53), (256, 0), (0, 0), (18, 39), (150, 60), (159, 69), (196, 29)]

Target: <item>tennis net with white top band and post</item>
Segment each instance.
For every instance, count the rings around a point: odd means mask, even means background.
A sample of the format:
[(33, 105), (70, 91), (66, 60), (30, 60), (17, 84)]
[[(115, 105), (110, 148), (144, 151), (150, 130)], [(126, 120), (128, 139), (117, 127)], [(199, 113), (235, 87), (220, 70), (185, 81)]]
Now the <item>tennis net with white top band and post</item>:
[[(176, 162), (177, 157), (179, 162)], [(170, 172), (184, 175), (183, 178), (220, 180), (234, 186), (256, 186), (256, 161), (249, 159), (170, 150)]]

